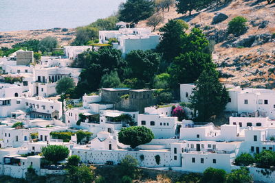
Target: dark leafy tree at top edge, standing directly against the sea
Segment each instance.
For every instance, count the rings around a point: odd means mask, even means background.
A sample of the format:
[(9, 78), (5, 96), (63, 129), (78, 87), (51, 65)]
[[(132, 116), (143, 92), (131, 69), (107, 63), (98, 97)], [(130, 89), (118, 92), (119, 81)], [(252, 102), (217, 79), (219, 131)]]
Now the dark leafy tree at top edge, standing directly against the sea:
[(127, 0), (120, 5), (118, 19), (133, 25), (152, 16), (154, 12), (155, 7), (151, 0)]

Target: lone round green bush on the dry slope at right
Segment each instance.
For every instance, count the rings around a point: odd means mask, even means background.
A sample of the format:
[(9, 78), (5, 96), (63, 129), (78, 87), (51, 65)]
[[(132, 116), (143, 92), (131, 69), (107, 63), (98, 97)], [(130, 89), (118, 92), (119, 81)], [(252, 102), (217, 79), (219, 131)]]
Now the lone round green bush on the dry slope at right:
[(236, 16), (228, 23), (228, 34), (233, 34), (234, 36), (244, 34), (248, 29), (247, 21), (248, 19), (243, 16)]

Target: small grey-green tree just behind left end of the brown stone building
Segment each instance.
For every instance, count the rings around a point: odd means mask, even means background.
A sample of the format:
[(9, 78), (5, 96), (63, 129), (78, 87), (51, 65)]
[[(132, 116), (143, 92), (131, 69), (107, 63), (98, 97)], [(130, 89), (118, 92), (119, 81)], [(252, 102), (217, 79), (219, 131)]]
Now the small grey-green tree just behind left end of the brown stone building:
[(101, 77), (101, 88), (118, 88), (120, 86), (120, 77), (118, 77), (117, 71), (111, 71), (111, 73), (104, 74)]

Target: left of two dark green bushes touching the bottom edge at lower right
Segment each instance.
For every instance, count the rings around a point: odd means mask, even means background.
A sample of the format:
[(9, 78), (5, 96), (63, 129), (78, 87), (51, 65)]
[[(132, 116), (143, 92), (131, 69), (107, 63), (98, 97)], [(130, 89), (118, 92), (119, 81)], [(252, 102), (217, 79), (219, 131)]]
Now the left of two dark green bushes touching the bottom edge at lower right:
[(223, 183), (226, 180), (226, 172), (223, 169), (214, 169), (212, 167), (203, 171), (201, 182), (203, 183)]

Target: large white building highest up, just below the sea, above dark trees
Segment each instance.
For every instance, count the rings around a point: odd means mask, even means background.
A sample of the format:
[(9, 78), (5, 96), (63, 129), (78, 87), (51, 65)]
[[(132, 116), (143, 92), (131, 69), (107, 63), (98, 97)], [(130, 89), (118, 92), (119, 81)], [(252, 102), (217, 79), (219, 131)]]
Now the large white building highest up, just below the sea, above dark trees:
[(123, 57), (132, 50), (155, 49), (159, 44), (159, 35), (152, 34), (149, 28), (122, 28), (99, 32), (100, 43), (107, 43), (110, 38), (118, 40), (113, 43), (113, 48), (121, 50)]

